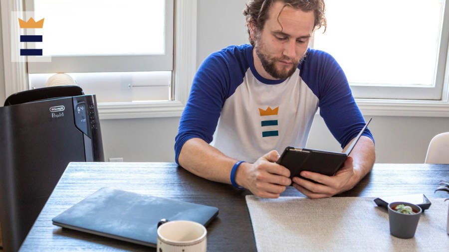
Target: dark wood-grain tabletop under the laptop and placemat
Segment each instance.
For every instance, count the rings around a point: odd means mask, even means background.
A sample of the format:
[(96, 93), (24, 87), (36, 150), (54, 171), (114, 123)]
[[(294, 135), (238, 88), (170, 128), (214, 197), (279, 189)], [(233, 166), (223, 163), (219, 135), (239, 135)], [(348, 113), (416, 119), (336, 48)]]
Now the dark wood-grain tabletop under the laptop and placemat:
[[(375, 164), (353, 190), (338, 196), (380, 197), (434, 193), (449, 179), (449, 165)], [(51, 219), (102, 187), (113, 187), (187, 202), (215, 206), (218, 217), (207, 227), (209, 251), (256, 251), (246, 207), (247, 190), (200, 178), (175, 163), (70, 163), (22, 244), (20, 251), (156, 251), (114, 239), (62, 229)], [(293, 187), (282, 196), (302, 196)]]

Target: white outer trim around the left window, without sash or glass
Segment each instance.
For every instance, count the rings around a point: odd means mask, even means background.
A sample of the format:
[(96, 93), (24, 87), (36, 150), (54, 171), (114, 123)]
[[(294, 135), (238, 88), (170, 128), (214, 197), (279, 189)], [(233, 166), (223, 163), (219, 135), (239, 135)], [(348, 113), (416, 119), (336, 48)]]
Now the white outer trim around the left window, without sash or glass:
[[(196, 71), (197, 0), (174, 0), (174, 57), (172, 101), (99, 103), (100, 119), (180, 117), (187, 102)], [(22, 0), (1, 1), (5, 97), (27, 90), (26, 62), (11, 51), (19, 49), (18, 22), (11, 22), (11, 12), (24, 12)]]

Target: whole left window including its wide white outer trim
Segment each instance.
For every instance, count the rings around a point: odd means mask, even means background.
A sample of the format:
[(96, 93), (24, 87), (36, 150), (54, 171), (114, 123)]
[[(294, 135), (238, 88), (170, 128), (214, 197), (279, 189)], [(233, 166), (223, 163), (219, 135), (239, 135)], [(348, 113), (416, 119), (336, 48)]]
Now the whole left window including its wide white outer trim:
[[(6, 96), (43, 87), (49, 76), (63, 72), (85, 93), (97, 95), (101, 119), (181, 115), (195, 74), (197, 0), (11, 0), (0, 5), (3, 51), (11, 52), (4, 54)], [(17, 17), (31, 16), (45, 18), (42, 29), (18, 27)], [(50, 22), (53, 18), (58, 21)], [(25, 56), (15, 55), (23, 48), (18, 41), (23, 30), (42, 32), (49, 43), (26, 43), (26, 48), (42, 46), (43, 56), (25, 62), (20, 60)], [(46, 55), (51, 62), (45, 62)]]

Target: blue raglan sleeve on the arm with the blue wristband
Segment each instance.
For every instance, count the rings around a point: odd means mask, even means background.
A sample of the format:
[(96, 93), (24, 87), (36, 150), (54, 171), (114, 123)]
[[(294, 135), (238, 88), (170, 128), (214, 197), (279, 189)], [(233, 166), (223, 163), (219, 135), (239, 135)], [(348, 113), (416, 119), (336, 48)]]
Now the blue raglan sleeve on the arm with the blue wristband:
[(228, 47), (211, 54), (200, 65), (181, 116), (175, 142), (175, 161), (184, 143), (201, 138), (207, 143), (213, 139), (225, 100), (242, 83), (245, 68), (243, 52)]

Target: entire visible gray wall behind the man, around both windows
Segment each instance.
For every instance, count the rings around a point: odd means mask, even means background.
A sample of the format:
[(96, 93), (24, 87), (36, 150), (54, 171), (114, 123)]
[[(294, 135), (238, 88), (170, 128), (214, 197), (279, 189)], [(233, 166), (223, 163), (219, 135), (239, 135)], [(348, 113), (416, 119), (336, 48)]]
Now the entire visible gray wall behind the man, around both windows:
[[(247, 42), (244, 16), (241, 14), (245, 2), (246, 0), (198, 0), (197, 66), (211, 52), (230, 44)], [(4, 82), (2, 67), (0, 69), (2, 103)], [(123, 157), (124, 161), (173, 162), (178, 124), (178, 117), (102, 120), (106, 160), (110, 157)], [(376, 162), (422, 163), (432, 137), (449, 131), (449, 118), (376, 116), (373, 117), (370, 129), (376, 138)], [(340, 150), (339, 144), (319, 116), (316, 116), (313, 123), (308, 147)]]

